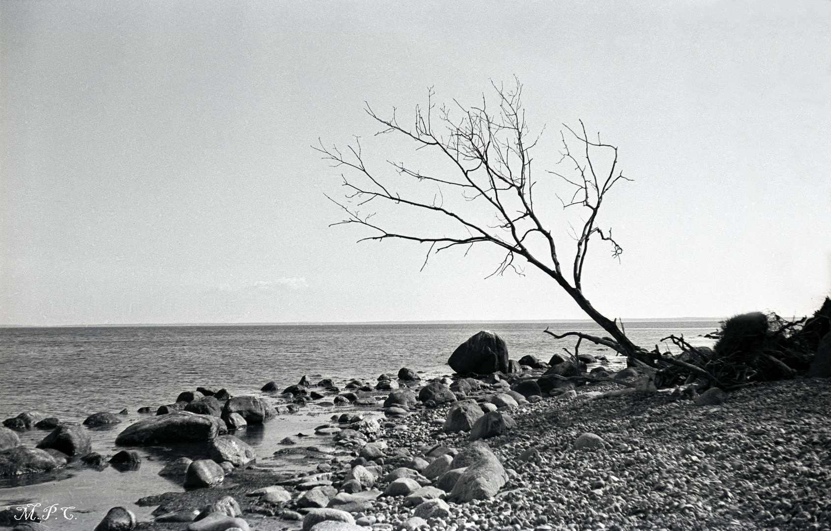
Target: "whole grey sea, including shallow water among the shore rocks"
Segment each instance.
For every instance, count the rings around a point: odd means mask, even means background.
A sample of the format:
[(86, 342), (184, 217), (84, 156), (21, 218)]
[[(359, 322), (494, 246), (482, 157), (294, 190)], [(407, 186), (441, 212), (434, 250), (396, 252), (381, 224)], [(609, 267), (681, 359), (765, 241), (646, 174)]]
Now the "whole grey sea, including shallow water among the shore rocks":
[[(711, 346), (713, 340), (704, 336), (719, 327), (719, 320), (652, 319), (624, 325), (627, 336), (642, 347), (652, 348), (670, 334), (683, 334), (696, 346)], [(38, 411), (81, 423), (99, 411), (126, 410), (120, 424), (90, 430), (92, 450), (113, 455), (120, 450), (114, 445), (120, 430), (145, 418), (138, 408), (170, 404), (181, 391), (197, 386), (224, 388), (232, 396), (269, 396), (260, 391), (269, 381), (281, 388), (302, 376), (312, 382), (331, 378), (340, 386), (353, 378), (374, 383), (381, 373), (396, 374), (401, 367), (429, 379), (449, 375), (447, 358), (480, 330), (503, 337), (514, 360), (530, 354), (548, 361), (555, 353), (563, 354), (563, 348), (573, 351), (573, 337), (557, 340), (543, 333), (546, 329), (606, 335), (590, 321), (6, 327), (0, 328), (0, 419)], [(580, 352), (607, 356), (609, 371), (626, 364), (615, 352), (591, 343), (583, 342)], [(271, 456), (284, 437), (313, 435), (314, 426), (349, 407), (310, 404), (293, 414), (283, 410), (278, 421), (248, 426), (234, 435), (252, 445), (260, 461), (276, 459)], [(37, 445), (48, 433), (31, 430), (20, 435), (24, 445)], [(316, 436), (307, 440), (309, 445), (325, 443)], [(142, 448), (140, 469), (127, 472), (73, 463), (47, 474), (0, 477), (0, 506), (40, 504), (40, 511), (54, 504), (59, 509), (72, 507), (52, 511), (44, 521), (52, 529), (91, 529), (117, 505), (139, 519), (150, 519), (154, 508), (139, 507), (135, 501), (181, 491), (180, 484), (158, 472), (187, 450), (176, 445)], [(302, 469), (291, 462), (272, 465)]]

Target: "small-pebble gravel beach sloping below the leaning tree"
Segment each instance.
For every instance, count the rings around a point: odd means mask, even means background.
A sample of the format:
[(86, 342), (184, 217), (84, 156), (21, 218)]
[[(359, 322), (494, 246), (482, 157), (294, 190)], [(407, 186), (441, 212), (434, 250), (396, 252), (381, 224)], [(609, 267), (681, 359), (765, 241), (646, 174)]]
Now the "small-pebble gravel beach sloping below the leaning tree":
[[(435, 531), (831, 529), (829, 383), (767, 382), (731, 392), (720, 406), (696, 406), (688, 397), (664, 393), (585, 398), (584, 391), (615, 387), (605, 383), (580, 387), (572, 399), (519, 406), (508, 411), (516, 427), (486, 440), (507, 470), (508, 483), (493, 499), (450, 503), (449, 516), (427, 519), (426, 525)], [(437, 445), (468, 445), (466, 433), (441, 433), (449, 409), (419, 407), (369, 430), (368, 440), (388, 445), (380, 460), (383, 473), (426, 457)], [(598, 435), (602, 445), (575, 450), (574, 441), (584, 433)], [(312, 466), (319, 464), (306, 475), (308, 481), (326, 484), (328, 478), (337, 487), (356, 464), (360, 445), (347, 440), (322, 450), (296, 451), (307, 452)], [(234, 472), (222, 488), (143, 501), (160, 504), (160, 514), (230, 494), (251, 529), (296, 529), (300, 521), (292, 519), (307, 512), (296, 505), (302, 490), (287, 486), (295, 496), (288, 504), (245, 496), (278, 480), (292, 482), (270, 472), (268, 459), (261, 459)], [(376, 486), (383, 490), (385, 484)], [(352, 512), (358, 524), (391, 531), (414, 515), (404, 496), (373, 499), (364, 493), (369, 499)], [(185, 527), (140, 523), (136, 529)]]

